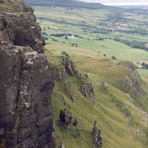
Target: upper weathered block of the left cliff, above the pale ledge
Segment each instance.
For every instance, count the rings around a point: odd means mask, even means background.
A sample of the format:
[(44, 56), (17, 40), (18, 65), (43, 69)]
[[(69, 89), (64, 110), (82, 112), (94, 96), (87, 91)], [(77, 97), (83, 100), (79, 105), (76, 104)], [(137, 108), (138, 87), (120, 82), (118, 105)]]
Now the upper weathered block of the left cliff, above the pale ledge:
[(19, 46), (29, 45), (38, 53), (43, 53), (45, 41), (33, 9), (23, 2), (12, 3), (12, 6), (11, 12), (0, 10), (0, 40), (11, 41)]

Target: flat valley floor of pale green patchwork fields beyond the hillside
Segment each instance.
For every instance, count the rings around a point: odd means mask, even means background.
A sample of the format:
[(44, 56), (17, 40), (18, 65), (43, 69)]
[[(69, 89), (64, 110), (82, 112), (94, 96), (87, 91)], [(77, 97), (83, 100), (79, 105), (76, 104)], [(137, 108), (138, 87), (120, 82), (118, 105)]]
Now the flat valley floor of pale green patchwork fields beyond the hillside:
[[(34, 7), (35, 14), (38, 18), (38, 23), (42, 27), (42, 32), (45, 34), (47, 48), (51, 48), (55, 54), (60, 54), (61, 50), (67, 51), (69, 54), (84, 55), (90, 50), (93, 56), (104, 56), (110, 58), (115, 56), (117, 60), (130, 60), (134, 64), (148, 63), (148, 52), (143, 49), (132, 48), (124, 43), (114, 41), (115, 37), (126, 39), (129, 41), (147, 42), (148, 35), (139, 33), (125, 33), (126, 30), (146, 30), (143, 20), (146, 14), (123, 13), (123, 18), (115, 20), (115, 12), (108, 9), (84, 9), (84, 8), (62, 8), (62, 7)], [(114, 18), (108, 20), (109, 16)], [(128, 21), (125, 18), (128, 19)], [(137, 16), (137, 17), (136, 17)], [(138, 19), (138, 20), (137, 20)], [(145, 19), (147, 22), (147, 19)], [(115, 25), (120, 24), (120, 25)], [(123, 25), (123, 26), (122, 26)], [(125, 25), (125, 26), (124, 26)], [(126, 26), (127, 25), (127, 26)], [(108, 29), (109, 28), (109, 29)], [(110, 31), (112, 29), (112, 31)], [(98, 30), (98, 33), (97, 33)], [(103, 31), (104, 32), (103, 32)], [(109, 31), (106, 31), (109, 30)], [(99, 32), (102, 31), (102, 32)], [(70, 33), (79, 35), (78, 39), (65, 39), (65, 37), (55, 37), (52, 34)], [(74, 47), (72, 47), (74, 44)], [(77, 44), (77, 47), (75, 45)], [(61, 48), (59, 48), (61, 47)], [(66, 47), (63, 49), (63, 47)], [(69, 50), (70, 49), (70, 50)], [(82, 51), (81, 51), (82, 50)], [(78, 51), (78, 53), (77, 53)], [(98, 53), (99, 51), (99, 53)], [(136, 64), (139, 68), (141, 66)]]

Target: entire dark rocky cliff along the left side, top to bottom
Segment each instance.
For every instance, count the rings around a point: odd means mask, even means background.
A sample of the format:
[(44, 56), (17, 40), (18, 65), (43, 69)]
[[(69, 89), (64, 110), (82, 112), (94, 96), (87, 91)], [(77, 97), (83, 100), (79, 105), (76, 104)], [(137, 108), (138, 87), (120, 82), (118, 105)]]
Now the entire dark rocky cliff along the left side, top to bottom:
[(52, 66), (33, 9), (0, 9), (0, 147), (53, 148)]

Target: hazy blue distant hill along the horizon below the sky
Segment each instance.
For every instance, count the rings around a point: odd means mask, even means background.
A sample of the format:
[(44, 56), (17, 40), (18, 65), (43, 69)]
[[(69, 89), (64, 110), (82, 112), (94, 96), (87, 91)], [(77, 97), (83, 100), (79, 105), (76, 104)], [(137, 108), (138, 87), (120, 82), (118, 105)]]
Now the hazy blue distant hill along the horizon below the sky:
[(56, 6), (56, 7), (81, 7), (88, 9), (100, 9), (104, 6), (99, 3), (86, 3), (76, 0), (24, 0), (32, 6)]

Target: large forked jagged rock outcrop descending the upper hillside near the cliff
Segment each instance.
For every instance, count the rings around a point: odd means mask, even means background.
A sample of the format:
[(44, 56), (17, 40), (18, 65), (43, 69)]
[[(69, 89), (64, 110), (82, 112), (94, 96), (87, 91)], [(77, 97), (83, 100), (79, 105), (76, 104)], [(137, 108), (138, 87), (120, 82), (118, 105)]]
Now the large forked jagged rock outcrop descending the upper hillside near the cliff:
[(63, 55), (63, 60), (62, 60), (62, 69), (57, 69), (56, 73), (56, 80), (58, 81), (63, 81), (65, 82), (66, 85), (66, 92), (69, 95), (70, 99), (75, 103), (75, 96), (73, 93), (73, 90), (71, 89), (71, 85), (68, 81), (68, 76), (76, 76), (79, 79), (79, 82), (81, 83), (80, 85), (80, 91), (83, 94), (85, 98), (88, 100), (93, 100), (95, 101), (95, 96), (94, 96), (94, 89), (92, 83), (89, 81), (88, 75), (86, 74), (85, 77), (83, 77), (75, 68), (70, 56), (66, 52), (62, 52)]

